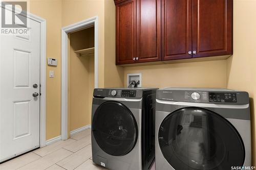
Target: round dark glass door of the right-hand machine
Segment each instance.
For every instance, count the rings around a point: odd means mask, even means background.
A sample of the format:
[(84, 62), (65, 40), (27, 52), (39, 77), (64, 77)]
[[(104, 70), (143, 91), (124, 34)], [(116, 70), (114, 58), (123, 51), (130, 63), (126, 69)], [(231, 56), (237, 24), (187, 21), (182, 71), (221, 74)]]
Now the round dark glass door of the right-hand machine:
[(202, 108), (170, 113), (158, 133), (160, 149), (176, 170), (242, 166), (245, 149), (237, 130), (222, 116)]

